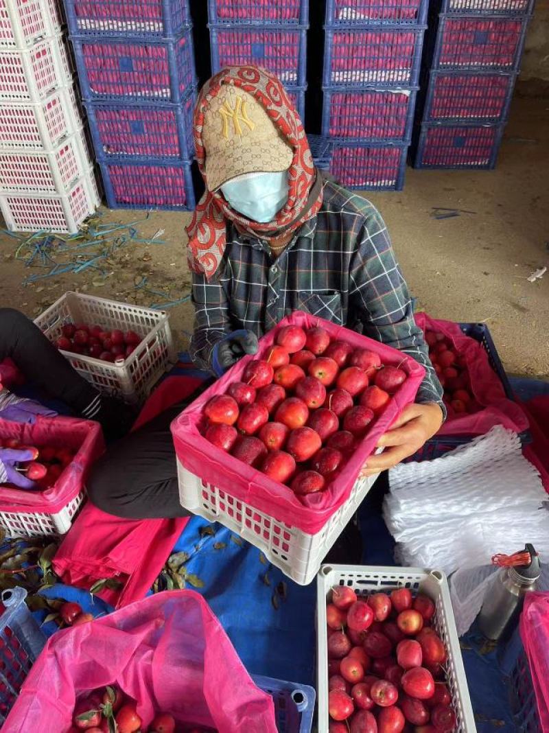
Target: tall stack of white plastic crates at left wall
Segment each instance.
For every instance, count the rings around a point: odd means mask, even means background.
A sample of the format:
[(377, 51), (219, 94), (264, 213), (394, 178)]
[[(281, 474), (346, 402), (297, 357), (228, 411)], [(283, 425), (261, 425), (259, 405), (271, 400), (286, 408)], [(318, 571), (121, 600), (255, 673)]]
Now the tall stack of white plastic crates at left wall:
[(99, 203), (55, 0), (0, 0), (0, 208), (15, 232), (78, 232)]

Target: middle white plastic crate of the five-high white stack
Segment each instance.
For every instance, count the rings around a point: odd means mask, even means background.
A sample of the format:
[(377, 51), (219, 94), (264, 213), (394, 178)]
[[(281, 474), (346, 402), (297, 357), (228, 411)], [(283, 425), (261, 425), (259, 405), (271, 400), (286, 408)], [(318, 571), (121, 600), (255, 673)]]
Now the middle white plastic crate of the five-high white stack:
[(38, 103), (4, 100), (0, 104), (0, 149), (51, 151), (82, 124), (72, 86), (54, 89)]

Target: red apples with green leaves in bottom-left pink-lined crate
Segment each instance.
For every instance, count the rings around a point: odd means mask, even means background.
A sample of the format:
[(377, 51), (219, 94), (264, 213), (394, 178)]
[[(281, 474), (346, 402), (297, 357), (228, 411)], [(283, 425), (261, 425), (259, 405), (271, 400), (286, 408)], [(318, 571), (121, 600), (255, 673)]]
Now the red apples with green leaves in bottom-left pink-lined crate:
[(120, 688), (106, 688), (86, 693), (76, 701), (73, 726), (68, 733), (208, 733), (211, 729), (200, 726), (178, 726), (173, 715), (160, 712), (150, 726), (143, 726), (137, 714), (136, 703), (126, 697)]

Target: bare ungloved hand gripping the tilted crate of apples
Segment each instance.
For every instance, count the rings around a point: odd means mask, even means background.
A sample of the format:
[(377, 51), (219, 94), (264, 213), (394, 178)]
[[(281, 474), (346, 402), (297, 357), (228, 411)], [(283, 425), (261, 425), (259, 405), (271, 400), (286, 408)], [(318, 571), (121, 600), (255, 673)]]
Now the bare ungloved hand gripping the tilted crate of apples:
[(394, 421), (391, 430), (377, 441), (377, 447), (383, 448), (383, 453), (369, 457), (362, 468), (361, 476), (372, 476), (386, 468), (392, 468), (413, 455), (425, 441), (435, 435), (442, 421), (443, 413), (436, 402), (408, 405)]

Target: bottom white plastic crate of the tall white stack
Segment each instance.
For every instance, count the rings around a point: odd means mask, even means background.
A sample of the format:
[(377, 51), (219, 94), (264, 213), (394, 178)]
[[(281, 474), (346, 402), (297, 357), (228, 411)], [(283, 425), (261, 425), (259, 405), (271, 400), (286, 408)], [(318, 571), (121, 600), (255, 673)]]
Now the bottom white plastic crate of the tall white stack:
[(100, 204), (93, 169), (76, 180), (66, 194), (0, 194), (0, 210), (12, 232), (76, 234)]

